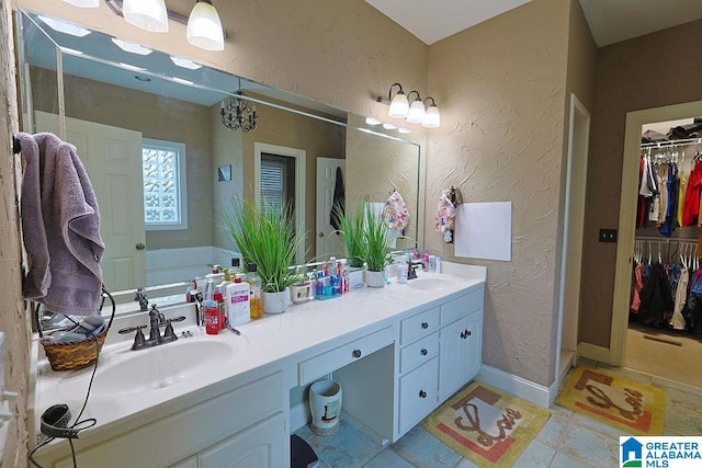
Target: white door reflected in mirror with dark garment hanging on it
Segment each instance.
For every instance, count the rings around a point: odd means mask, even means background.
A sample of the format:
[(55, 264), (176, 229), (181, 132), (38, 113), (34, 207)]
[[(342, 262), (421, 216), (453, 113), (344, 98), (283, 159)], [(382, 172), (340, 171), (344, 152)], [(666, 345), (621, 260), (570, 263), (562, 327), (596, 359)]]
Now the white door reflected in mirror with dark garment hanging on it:
[(339, 235), (333, 233), (335, 229), (330, 222), (337, 168), (341, 168), (341, 173), (346, 174), (346, 161), (343, 159), (317, 158), (317, 235), (315, 237), (317, 259), (328, 259), (330, 255), (343, 256), (344, 252), (341, 238)]

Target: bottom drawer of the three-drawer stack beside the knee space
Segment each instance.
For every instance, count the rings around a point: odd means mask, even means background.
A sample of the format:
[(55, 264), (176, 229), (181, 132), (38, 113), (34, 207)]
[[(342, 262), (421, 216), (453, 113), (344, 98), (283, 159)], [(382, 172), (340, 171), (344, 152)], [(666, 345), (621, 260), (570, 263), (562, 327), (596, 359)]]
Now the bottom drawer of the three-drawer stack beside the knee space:
[(399, 379), (399, 432), (406, 433), (439, 402), (439, 358), (417, 367)]

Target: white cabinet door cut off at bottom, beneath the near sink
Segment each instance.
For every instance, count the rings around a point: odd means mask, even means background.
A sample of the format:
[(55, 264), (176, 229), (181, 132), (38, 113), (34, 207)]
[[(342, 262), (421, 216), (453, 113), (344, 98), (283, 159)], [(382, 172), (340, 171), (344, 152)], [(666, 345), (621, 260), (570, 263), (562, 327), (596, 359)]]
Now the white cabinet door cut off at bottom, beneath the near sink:
[(285, 415), (280, 412), (202, 452), (200, 468), (278, 468), (290, 464)]

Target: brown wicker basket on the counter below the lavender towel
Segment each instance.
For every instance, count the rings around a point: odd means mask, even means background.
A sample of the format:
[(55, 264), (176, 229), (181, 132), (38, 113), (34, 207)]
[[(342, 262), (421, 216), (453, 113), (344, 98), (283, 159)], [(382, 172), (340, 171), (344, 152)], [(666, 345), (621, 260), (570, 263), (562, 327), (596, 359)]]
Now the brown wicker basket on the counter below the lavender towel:
[[(98, 359), (100, 355), (100, 350), (102, 350), (102, 345), (105, 342), (105, 338), (107, 338), (107, 332), (110, 331), (110, 327), (112, 326), (112, 320), (114, 319), (115, 312), (115, 304), (112, 295), (103, 287), (102, 288), (102, 303), (100, 304), (100, 310), (104, 306), (105, 298), (110, 298), (112, 303), (112, 315), (110, 316), (110, 321), (107, 326), (93, 338), (80, 341), (71, 341), (66, 343), (55, 343), (53, 341), (48, 341), (47, 338), (42, 332), (41, 320), (38, 317), (38, 304), (35, 307), (36, 311), (36, 328), (39, 333), (39, 343), (44, 346), (44, 353), (48, 358), (48, 363), (52, 365), (54, 370), (71, 370), (71, 369), (80, 369), (83, 367), (88, 367)], [(58, 330), (57, 330), (58, 331)]]

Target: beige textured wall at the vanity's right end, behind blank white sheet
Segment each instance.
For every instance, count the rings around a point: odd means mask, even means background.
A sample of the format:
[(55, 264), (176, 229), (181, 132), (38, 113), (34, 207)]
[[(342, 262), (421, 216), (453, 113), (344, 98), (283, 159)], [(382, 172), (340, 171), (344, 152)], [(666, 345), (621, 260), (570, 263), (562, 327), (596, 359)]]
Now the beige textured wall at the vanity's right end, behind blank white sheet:
[(569, 4), (535, 0), (433, 44), (429, 89), (442, 125), (429, 134), (426, 244), (440, 192), (512, 202), (512, 261), (488, 266), (483, 362), (551, 385)]

